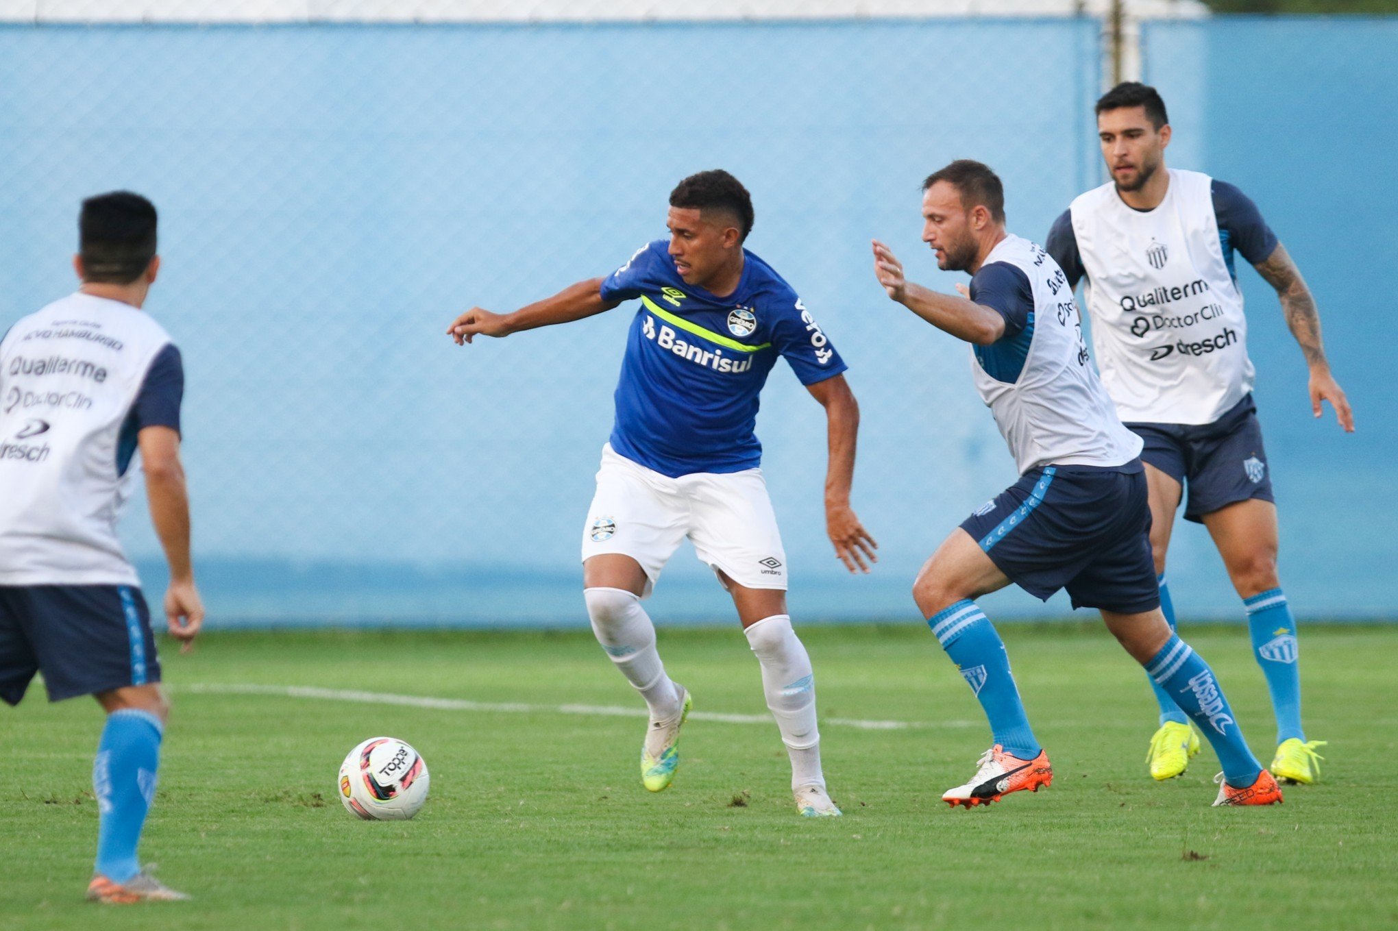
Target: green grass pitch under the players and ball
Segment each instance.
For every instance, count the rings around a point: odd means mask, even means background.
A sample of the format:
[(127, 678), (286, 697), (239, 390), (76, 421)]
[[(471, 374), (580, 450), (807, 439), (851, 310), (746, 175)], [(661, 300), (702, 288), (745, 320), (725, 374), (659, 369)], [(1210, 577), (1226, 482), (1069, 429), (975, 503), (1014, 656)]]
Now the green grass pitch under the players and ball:
[[(211, 635), (165, 651), (175, 716), (143, 844), (185, 904), (82, 903), (96, 807), (88, 700), (4, 714), (0, 927), (42, 928), (1376, 928), (1398, 923), (1391, 672), (1398, 628), (1302, 640), (1325, 781), (1267, 809), (1213, 809), (1211, 751), (1145, 774), (1153, 702), (1097, 628), (1004, 630), (1054, 786), (951, 811), (987, 731), (925, 629), (814, 628), (839, 821), (795, 815), (769, 723), (692, 721), (670, 791), (640, 788), (640, 719), (425, 710), (180, 691), (319, 685), (481, 702), (636, 705), (586, 633)], [(1254, 748), (1271, 712), (1241, 629), (1195, 628)], [(705, 712), (765, 713), (741, 633), (663, 630)], [(415, 821), (341, 809), (336, 772), (375, 734), (428, 760)], [(735, 798), (745, 804), (734, 807)]]

